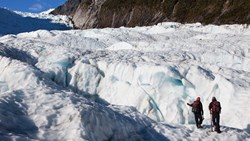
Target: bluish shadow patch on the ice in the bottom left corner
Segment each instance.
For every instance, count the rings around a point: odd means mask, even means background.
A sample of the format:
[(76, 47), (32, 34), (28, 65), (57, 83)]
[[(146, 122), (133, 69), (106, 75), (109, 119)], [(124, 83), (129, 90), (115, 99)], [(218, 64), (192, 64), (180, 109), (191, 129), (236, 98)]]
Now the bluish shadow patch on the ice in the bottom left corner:
[(38, 132), (28, 117), (28, 107), (23, 101), (24, 93), (14, 91), (0, 99), (0, 137), (9, 135), (34, 138)]

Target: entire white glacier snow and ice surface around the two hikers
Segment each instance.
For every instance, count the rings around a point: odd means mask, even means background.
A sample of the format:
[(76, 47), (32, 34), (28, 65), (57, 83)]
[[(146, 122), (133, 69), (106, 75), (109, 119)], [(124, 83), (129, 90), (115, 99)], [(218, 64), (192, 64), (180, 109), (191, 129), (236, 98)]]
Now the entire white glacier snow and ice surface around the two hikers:
[(0, 9), (1, 140), (250, 140), (247, 25), (65, 30), (61, 17)]

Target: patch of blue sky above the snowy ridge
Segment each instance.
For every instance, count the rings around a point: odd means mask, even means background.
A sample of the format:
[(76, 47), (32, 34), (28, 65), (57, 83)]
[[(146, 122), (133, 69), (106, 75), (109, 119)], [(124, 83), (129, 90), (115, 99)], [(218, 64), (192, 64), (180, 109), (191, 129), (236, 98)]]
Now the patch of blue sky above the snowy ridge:
[(0, 0), (0, 7), (11, 10), (39, 13), (64, 4), (67, 0)]

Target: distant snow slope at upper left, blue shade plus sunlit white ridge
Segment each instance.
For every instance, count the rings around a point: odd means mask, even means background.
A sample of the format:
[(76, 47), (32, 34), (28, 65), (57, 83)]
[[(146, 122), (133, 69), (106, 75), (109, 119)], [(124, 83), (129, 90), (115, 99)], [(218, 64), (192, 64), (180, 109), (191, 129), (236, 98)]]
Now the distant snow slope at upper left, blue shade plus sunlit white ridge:
[(30, 32), (38, 29), (72, 29), (72, 23), (66, 16), (48, 15), (48, 12), (31, 14), (13, 12), (0, 7), (0, 35)]

